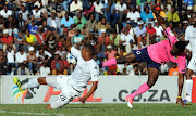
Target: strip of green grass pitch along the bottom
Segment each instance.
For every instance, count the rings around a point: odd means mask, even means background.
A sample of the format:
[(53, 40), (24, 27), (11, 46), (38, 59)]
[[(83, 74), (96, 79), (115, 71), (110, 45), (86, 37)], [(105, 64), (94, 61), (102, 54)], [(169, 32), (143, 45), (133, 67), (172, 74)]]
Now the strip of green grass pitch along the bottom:
[(69, 104), (59, 109), (45, 109), (46, 104), (0, 105), (0, 116), (196, 116), (196, 104)]

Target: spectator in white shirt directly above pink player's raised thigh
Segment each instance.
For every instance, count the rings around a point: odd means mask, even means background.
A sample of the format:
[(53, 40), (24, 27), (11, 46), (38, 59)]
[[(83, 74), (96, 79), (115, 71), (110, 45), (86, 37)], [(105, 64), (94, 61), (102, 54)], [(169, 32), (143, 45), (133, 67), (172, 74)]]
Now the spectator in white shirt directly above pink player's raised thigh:
[(122, 46), (125, 48), (126, 54), (128, 54), (131, 50), (134, 48), (134, 42), (135, 42), (133, 36), (128, 33), (128, 29), (122, 30), (121, 41), (122, 41)]

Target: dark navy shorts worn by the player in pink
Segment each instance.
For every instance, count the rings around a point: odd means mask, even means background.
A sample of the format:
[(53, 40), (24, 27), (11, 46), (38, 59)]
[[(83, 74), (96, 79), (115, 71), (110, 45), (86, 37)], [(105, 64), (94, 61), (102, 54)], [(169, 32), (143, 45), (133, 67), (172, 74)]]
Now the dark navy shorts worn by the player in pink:
[(157, 69), (159, 69), (159, 67), (161, 66), (161, 64), (154, 62), (149, 57), (147, 48), (139, 49), (139, 50), (132, 50), (132, 51), (135, 54), (136, 61), (138, 63), (146, 62), (147, 63), (147, 67), (154, 67), (154, 68), (157, 68)]

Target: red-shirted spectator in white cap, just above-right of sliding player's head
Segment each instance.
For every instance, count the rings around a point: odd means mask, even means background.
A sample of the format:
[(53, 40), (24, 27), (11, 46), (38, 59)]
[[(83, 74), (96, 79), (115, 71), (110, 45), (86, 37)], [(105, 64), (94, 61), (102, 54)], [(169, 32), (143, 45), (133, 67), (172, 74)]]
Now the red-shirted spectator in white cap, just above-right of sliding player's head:
[(101, 29), (101, 36), (98, 38), (99, 42), (101, 43), (101, 46), (107, 47), (108, 44), (110, 44), (110, 38), (109, 36), (106, 35), (106, 29)]

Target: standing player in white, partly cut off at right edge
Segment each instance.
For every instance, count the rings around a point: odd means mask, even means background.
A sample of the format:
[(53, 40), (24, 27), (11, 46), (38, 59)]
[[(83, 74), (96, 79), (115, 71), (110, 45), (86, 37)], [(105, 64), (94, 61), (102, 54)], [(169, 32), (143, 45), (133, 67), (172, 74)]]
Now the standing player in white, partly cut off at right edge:
[(193, 13), (191, 18), (191, 26), (186, 28), (185, 31), (185, 40), (189, 41), (192, 47), (192, 59), (188, 63), (187, 69), (186, 69), (186, 99), (184, 100), (185, 104), (192, 104), (192, 87), (193, 87), (193, 80), (192, 75), (194, 72), (196, 72), (196, 13)]

